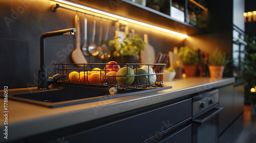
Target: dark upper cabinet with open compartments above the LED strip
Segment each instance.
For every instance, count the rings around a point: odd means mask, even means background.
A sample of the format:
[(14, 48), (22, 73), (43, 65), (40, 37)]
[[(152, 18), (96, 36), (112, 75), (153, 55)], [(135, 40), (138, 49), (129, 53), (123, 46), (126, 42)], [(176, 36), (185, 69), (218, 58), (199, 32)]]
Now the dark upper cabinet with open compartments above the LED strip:
[[(85, 6), (186, 35), (207, 33), (207, 8), (197, 0), (71, 0)], [(160, 8), (153, 2), (159, 2)]]

